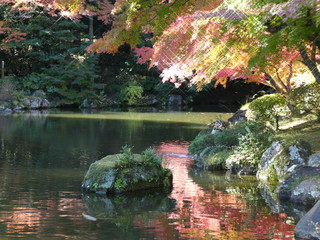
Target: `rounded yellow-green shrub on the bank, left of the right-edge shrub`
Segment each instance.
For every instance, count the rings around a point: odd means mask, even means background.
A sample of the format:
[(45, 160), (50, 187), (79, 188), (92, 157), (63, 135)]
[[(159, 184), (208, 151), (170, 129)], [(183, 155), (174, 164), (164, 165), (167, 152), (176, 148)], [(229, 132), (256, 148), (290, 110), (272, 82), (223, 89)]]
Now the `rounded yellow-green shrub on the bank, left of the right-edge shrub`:
[(289, 112), (286, 100), (280, 94), (259, 97), (249, 104), (248, 119), (269, 122), (274, 129), (279, 128), (279, 117)]

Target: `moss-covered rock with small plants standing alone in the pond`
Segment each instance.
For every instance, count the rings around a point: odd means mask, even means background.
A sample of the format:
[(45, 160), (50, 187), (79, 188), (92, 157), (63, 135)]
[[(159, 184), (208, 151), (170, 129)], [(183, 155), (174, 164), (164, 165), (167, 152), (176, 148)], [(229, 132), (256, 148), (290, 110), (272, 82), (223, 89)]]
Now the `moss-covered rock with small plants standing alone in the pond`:
[(92, 163), (82, 188), (98, 194), (130, 192), (150, 188), (171, 188), (172, 172), (161, 163), (146, 164), (140, 154), (133, 154), (132, 162), (117, 164), (121, 154), (109, 155)]

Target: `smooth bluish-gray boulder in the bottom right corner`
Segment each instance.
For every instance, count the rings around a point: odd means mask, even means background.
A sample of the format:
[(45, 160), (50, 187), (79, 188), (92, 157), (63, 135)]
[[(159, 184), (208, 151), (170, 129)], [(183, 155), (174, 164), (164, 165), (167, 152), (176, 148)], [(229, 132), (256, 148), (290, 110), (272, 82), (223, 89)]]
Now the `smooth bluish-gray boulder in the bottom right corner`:
[(294, 232), (299, 239), (320, 239), (320, 201), (300, 219)]

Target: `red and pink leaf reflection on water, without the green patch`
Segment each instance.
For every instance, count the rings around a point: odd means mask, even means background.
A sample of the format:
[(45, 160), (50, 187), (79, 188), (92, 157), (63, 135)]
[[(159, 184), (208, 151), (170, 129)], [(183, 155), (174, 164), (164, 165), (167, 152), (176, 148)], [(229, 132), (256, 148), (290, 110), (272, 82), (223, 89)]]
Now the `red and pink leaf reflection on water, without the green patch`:
[[(187, 143), (169, 142), (157, 147), (157, 153), (186, 154)], [(245, 198), (208, 185), (203, 189), (190, 178), (191, 159), (166, 156), (166, 166), (173, 172), (171, 198), (177, 201), (174, 213), (148, 221), (140, 218), (139, 228), (154, 229), (157, 239), (174, 239), (176, 232), (190, 239), (281, 239), (292, 240), (294, 227), (285, 223), (286, 214), (270, 213), (267, 207), (250, 207)], [(209, 184), (209, 183), (208, 183)]]

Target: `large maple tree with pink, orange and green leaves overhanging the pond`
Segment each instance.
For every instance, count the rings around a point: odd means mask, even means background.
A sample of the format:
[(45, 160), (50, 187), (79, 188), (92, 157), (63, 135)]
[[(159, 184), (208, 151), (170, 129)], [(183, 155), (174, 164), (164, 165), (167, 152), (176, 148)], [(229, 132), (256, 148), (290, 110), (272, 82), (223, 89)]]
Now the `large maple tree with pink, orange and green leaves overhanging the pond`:
[[(176, 86), (245, 79), (286, 95), (306, 68), (320, 82), (318, 9), (316, 0), (119, 0), (108, 13), (112, 29), (88, 51), (115, 53), (126, 43)], [(146, 33), (152, 47), (141, 45)]]

